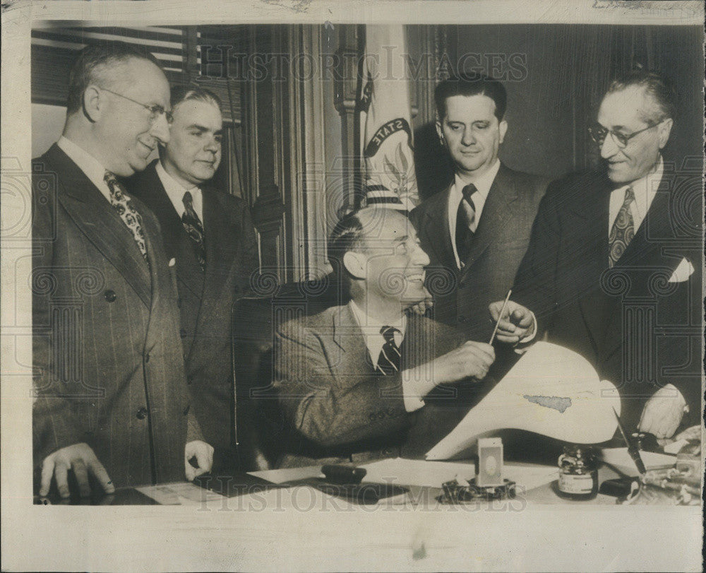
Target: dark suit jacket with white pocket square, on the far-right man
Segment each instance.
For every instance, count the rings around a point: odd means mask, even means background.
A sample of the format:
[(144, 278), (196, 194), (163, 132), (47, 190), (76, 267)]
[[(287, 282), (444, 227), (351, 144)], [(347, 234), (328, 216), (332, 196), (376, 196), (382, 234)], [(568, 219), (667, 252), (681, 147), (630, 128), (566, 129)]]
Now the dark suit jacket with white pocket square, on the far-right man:
[[(616, 266), (608, 268), (611, 184), (598, 174), (551, 184), (542, 200), (513, 299), (537, 316), (539, 336), (585, 356), (621, 391), (623, 418), (671, 382), (701, 407), (702, 189), (669, 172)], [(690, 261), (686, 280), (670, 282)], [(689, 418), (687, 418), (689, 420)]]

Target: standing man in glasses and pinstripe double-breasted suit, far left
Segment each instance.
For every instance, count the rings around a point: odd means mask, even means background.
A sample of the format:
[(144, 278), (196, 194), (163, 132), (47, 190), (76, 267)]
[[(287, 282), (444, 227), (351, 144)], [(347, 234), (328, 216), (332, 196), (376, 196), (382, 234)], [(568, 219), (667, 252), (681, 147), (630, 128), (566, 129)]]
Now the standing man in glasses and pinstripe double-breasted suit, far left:
[(68, 497), (70, 471), (85, 496), (90, 480), (112, 492), (210, 469), (213, 448), (189, 412), (159, 224), (116, 180), (169, 140), (168, 110), (169, 84), (150, 54), (87, 47), (69, 76), (64, 133), (33, 165), (40, 495), (54, 478)]

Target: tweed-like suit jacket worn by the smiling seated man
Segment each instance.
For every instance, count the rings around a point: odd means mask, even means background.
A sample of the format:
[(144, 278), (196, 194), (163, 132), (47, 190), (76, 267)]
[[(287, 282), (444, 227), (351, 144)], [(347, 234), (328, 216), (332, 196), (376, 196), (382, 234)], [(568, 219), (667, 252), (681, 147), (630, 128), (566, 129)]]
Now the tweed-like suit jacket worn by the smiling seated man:
[[(448, 326), (410, 315), (400, 346), (401, 370), (429, 362), (464, 341)], [(381, 376), (373, 370), (348, 305), (282, 325), (274, 352), (274, 390), (289, 425), (280, 466), (421, 457), (474, 403), (475, 384), (460, 383), (438, 387), (426, 406), (407, 413), (400, 374)]]

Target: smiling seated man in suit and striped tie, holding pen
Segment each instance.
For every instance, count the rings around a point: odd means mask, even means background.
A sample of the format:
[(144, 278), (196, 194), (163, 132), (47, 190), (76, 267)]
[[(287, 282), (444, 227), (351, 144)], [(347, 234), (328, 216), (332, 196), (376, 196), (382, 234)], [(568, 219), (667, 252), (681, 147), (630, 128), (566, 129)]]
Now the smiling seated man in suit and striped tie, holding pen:
[(349, 302), (277, 329), (274, 385), (290, 430), (280, 465), (421, 456), (467, 412), (462, 386), (485, 377), (493, 348), (405, 314), (429, 294), (429, 257), (405, 215), (347, 215), (329, 256)]

